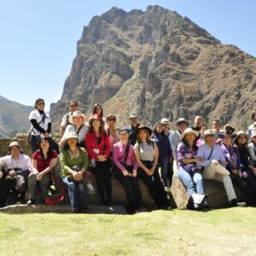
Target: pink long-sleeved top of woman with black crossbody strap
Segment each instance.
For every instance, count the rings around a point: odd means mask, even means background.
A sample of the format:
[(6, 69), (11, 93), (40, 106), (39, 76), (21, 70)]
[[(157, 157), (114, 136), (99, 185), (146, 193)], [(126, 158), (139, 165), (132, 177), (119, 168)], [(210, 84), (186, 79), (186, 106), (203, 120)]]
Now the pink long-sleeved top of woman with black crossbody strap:
[[(125, 148), (121, 142), (113, 144), (113, 163), (121, 170), (125, 171), (125, 167), (121, 163), (125, 163)], [(133, 166), (133, 170), (137, 170), (137, 162), (135, 158), (135, 152), (132, 145), (129, 145), (129, 152), (127, 155), (126, 165)]]

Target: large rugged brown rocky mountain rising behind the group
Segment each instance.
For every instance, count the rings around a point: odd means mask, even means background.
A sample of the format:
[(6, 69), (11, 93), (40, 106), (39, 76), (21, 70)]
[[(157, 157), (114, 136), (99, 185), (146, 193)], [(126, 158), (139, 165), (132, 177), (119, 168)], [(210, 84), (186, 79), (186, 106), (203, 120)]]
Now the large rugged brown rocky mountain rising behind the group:
[[(221, 26), (221, 25), (220, 25)], [(119, 125), (137, 111), (153, 125), (196, 114), (242, 127), (256, 99), (256, 60), (221, 44), (186, 17), (159, 6), (143, 12), (113, 8), (84, 27), (61, 100), (51, 105), (55, 127), (70, 99), (90, 115), (100, 102)]]

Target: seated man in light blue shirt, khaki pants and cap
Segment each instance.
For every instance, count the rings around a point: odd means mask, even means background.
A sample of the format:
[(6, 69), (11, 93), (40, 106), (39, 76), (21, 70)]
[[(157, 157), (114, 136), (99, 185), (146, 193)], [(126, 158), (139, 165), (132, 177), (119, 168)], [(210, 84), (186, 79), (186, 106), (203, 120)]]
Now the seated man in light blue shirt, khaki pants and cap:
[(197, 166), (204, 167), (204, 178), (214, 179), (218, 182), (224, 183), (228, 199), (232, 207), (243, 206), (236, 199), (236, 193), (230, 179), (230, 172), (224, 166), (227, 165), (226, 159), (221, 148), (214, 145), (215, 132), (208, 129), (204, 133), (205, 143), (198, 148), (196, 157), (203, 158), (204, 161), (197, 162)]

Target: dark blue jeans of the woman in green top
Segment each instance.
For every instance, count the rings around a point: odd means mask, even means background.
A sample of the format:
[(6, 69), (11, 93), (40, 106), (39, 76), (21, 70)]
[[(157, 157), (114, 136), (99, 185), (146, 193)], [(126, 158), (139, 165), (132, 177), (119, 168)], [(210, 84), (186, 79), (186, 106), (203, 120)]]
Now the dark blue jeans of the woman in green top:
[(68, 195), (73, 211), (87, 208), (86, 192), (83, 182), (69, 182), (67, 177), (62, 177), (62, 182), (67, 185)]

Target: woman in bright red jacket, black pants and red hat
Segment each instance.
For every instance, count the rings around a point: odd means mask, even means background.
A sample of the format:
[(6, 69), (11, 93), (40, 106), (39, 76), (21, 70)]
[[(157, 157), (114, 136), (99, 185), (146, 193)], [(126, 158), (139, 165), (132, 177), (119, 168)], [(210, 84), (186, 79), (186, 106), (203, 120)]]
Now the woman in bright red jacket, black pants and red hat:
[(112, 188), (110, 181), (110, 143), (104, 122), (99, 114), (89, 119), (89, 131), (85, 137), (85, 147), (91, 162), (95, 162), (96, 185), (101, 197), (101, 205), (112, 206)]

